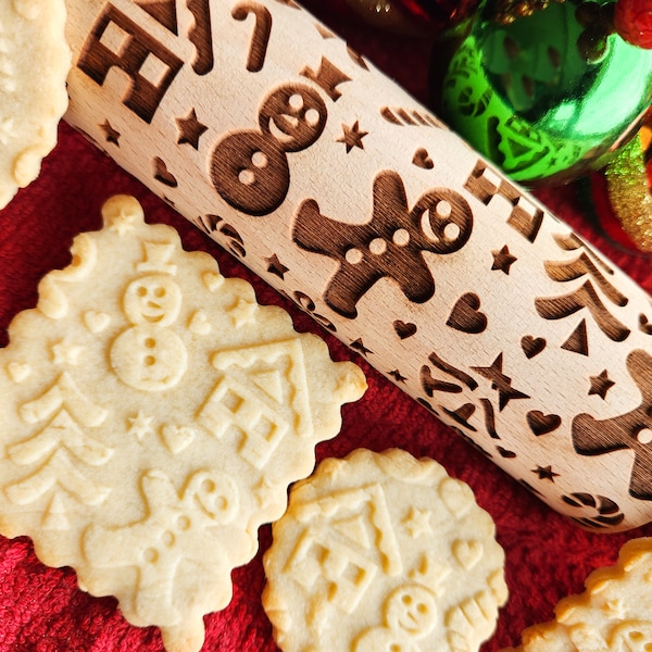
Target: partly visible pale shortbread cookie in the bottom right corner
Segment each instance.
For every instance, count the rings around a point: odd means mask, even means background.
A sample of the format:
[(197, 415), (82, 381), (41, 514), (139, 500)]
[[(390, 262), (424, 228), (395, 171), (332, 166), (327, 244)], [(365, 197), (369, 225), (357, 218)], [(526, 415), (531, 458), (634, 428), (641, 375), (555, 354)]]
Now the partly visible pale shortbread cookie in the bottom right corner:
[(652, 650), (652, 538), (623, 546), (615, 566), (589, 575), (586, 591), (560, 601), (555, 620), (532, 625), (503, 652)]

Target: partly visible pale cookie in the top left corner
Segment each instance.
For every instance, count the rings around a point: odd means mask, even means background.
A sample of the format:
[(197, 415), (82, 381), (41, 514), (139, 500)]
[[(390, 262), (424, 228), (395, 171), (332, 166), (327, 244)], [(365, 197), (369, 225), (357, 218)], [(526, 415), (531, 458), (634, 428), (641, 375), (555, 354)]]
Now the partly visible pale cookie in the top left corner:
[(57, 143), (71, 67), (64, 0), (0, 2), (0, 209)]

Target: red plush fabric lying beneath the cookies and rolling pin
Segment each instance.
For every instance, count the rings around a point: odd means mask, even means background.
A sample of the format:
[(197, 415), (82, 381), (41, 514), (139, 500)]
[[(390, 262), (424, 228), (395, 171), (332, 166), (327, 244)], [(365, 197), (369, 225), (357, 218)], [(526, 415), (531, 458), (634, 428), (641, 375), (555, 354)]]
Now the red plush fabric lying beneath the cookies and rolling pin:
[[(305, 4), (356, 50), (426, 101), (430, 43), (366, 27), (343, 0), (312, 0)], [(592, 569), (612, 564), (626, 540), (652, 535), (650, 526), (618, 535), (587, 532), (550, 510), (65, 124), (39, 179), (0, 212), (0, 346), (7, 344), (12, 317), (36, 304), (39, 278), (70, 262), (73, 237), (99, 228), (102, 203), (117, 192), (136, 196), (149, 222), (175, 226), (186, 248), (213, 254), (225, 275), (252, 283), (259, 301), (287, 309), (298, 329), (324, 337), (335, 359), (350, 359), (362, 366), (369, 389), (360, 402), (344, 406), (341, 434), (318, 447), (318, 460), (341, 456), (359, 447), (376, 451), (401, 447), (416, 456), (434, 457), (449, 474), (471, 485), (478, 503), (496, 521), (498, 540), (506, 552), (511, 591), (496, 635), (484, 652), (517, 644), (524, 627), (552, 617), (556, 602), (579, 592)], [(577, 185), (540, 191), (539, 197), (648, 291), (652, 290), (649, 258), (615, 247), (600, 235)], [(265, 526), (260, 530), (261, 552), (233, 574), (233, 602), (223, 612), (205, 617), (205, 652), (277, 650), (261, 605), (265, 581), (261, 557), (269, 542), (271, 528)], [(133, 627), (122, 617), (114, 599), (96, 599), (82, 592), (72, 569), (43, 566), (27, 538), (0, 537), (0, 652), (162, 649), (155, 628)]]

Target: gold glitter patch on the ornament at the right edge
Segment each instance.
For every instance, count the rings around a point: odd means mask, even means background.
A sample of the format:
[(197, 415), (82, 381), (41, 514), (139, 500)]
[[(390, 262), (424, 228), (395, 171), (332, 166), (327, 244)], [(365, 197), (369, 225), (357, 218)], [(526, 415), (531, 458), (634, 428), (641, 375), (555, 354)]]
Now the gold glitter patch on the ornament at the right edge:
[(645, 150), (652, 130), (644, 126), (605, 168), (609, 197), (623, 230), (642, 251), (652, 252), (652, 193)]

